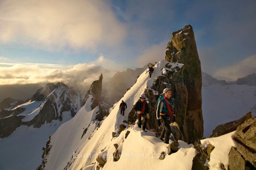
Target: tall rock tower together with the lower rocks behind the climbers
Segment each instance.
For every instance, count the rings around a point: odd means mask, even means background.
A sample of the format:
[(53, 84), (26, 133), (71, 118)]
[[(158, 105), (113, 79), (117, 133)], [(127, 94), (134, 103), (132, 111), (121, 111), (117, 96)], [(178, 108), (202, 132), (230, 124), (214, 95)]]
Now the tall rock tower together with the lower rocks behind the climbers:
[[(162, 75), (154, 79), (151, 89), (145, 89), (147, 97), (150, 120), (149, 127), (158, 129), (156, 123), (156, 105), (159, 95), (163, 89), (172, 89), (175, 100), (174, 113), (178, 129), (182, 132), (179, 139), (193, 143), (197, 138), (203, 136), (202, 117), (202, 73), (201, 65), (196, 49), (194, 32), (192, 26), (172, 33), (172, 41), (166, 47), (164, 60), (170, 63), (162, 69)], [(180, 64), (182, 63), (182, 64)], [(158, 91), (156, 95), (153, 91)], [(132, 109), (128, 121), (135, 122), (137, 119)], [(158, 130), (156, 130), (158, 131)]]

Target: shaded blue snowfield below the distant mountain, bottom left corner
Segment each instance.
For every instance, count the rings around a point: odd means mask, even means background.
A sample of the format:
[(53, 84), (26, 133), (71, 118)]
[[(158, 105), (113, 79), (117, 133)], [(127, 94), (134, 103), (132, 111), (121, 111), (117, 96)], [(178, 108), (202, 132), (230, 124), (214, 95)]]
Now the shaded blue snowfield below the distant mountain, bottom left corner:
[(40, 128), (23, 125), (10, 136), (0, 138), (0, 170), (35, 170), (42, 162), (42, 148), (49, 136), (70, 120), (70, 112), (62, 115), (62, 121), (54, 120)]

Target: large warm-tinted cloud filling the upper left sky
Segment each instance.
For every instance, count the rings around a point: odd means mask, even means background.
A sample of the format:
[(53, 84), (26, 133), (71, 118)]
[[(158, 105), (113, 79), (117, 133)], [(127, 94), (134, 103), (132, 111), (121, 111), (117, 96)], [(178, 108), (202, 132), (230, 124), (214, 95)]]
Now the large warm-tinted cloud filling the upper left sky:
[(17, 44), (50, 51), (95, 51), (126, 36), (125, 26), (105, 1), (1, 0), (0, 45)]

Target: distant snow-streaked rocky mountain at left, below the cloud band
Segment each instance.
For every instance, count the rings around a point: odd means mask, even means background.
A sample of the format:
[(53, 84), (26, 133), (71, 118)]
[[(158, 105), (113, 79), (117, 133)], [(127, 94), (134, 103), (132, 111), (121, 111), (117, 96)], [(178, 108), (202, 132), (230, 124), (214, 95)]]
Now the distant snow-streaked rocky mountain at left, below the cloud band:
[[(52, 123), (54, 120), (62, 121), (64, 115), (66, 119), (71, 119), (80, 109), (80, 95), (71, 90), (62, 82), (55, 84), (48, 83), (36, 91), (31, 100), (21, 103), (13, 109), (1, 110), (0, 118), (4, 122), (0, 127), (0, 137), (10, 135), (21, 125), (40, 128), (45, 123)], [(15, 122), (10, 127), (5, 123)]]

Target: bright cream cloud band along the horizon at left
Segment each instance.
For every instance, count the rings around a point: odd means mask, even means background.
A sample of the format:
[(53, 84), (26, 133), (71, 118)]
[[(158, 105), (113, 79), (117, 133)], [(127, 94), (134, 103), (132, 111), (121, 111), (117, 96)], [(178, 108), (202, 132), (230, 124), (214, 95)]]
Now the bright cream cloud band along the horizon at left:
[[(104, 61), (101, 56), (97, 61)], [(108, 69), (94, 63), (77, 65), (53, 65), (33, 63), (0, 63), (0, 85), (57, 83), (62, 81), (67, 85), (88, 87), (92, 81), (103, 74), (103, 80), (109, 79), (116, 70)]]

